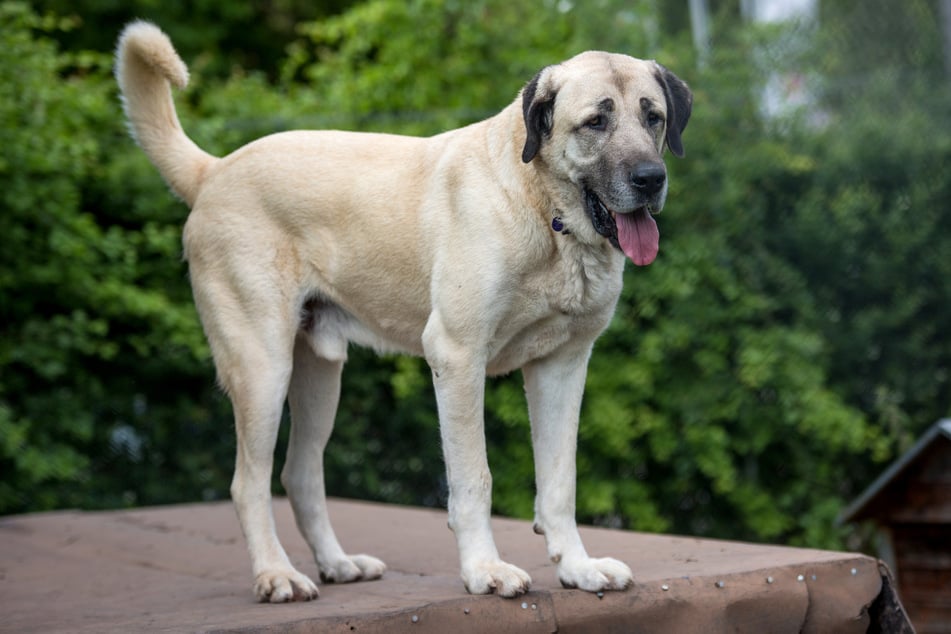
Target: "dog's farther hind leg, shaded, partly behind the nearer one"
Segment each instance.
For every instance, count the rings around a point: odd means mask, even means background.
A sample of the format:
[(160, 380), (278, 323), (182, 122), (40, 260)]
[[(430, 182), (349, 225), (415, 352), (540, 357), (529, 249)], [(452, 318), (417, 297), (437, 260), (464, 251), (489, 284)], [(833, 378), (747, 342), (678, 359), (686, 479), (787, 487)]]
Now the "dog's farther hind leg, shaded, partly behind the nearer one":
[(330, 360), (317, 356), (306, 335), (298, 335), (288, 392), (291, 437), (287, 462), (281, 473), (297, 527), (314, 552), (320, 578), (338, 583), (377, 579), (386, 570), (386, 565), (375, 557), (344, 553), (327, 513), (324, 447), (333, 430), (340, 400), (343, 363), (343, 358)]

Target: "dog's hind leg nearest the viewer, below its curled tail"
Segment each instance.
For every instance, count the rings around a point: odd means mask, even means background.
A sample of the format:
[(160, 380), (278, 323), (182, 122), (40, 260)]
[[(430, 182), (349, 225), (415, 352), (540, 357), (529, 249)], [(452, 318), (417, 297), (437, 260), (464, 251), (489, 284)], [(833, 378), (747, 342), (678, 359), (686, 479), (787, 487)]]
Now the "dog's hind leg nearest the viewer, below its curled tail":
[(271, 508), (274, 448), (293, 367), (297, 307), (270, 279), (222, 280), (208, 249), (190, 257), (195, 304), (211, 344), (218, 380), (234, 409), (237, 451), (231, 497), (251, 555), (259, 601), (317, 597), (278, 540)]

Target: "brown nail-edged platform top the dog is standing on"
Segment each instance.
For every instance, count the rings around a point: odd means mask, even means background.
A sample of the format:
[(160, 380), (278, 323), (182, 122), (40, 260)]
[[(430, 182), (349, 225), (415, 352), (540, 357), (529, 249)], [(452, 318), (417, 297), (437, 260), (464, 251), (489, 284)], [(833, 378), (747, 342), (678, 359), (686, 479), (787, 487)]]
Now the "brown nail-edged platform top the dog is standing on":
[[(230, 503), (0, 518), (0, 631), (865, 632), (882, 575), (870, 557), (583, 528), (592, 556), (635, 585), (567, 590), (531, 523), (496, 518), (506, 560), (533, 579), (517, 599), (466, 594), (444, 511), (331, 500), (345, 549), (383, 559), (383, 579), (321, 584), (310, 603), (267, 605)], [(288, 555), (317, 578), (286, 500)]]

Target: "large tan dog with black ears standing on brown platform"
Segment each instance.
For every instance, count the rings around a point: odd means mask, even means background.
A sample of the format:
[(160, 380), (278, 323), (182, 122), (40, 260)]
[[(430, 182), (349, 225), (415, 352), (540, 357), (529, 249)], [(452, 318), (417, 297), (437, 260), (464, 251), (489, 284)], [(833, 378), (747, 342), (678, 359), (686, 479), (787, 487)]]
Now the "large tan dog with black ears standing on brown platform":
[(136, 22), (116, 76), (137, 142), (191, 214), (195, 302), (234, 406), (231, 493), (262, 601), (313, 599), (274, 531), (281, 475), (320, 576), (375, 579), (327, 516), (323, 451), (348, 342), (422, 355), (432, 369), (449, 480), (449, 526), (472, 593), (531, 580), (502, 561), (489, 525), (486, 374), (521, 368), (532, 426), (535, 530), (562, 584), (623, 589), (631, 570), (585, 552), (575, 524), (575, 448), (588, 357), (621, 291), (625, 255), (654, 260), (667, 194), (661, 156), (683, 154), (687, 86), (653, 61), (588, 52), (539, 72), (498, 115), (431, 138), (285, 132), (224, 158), (182, 131), (169, 83), (188, 71)]

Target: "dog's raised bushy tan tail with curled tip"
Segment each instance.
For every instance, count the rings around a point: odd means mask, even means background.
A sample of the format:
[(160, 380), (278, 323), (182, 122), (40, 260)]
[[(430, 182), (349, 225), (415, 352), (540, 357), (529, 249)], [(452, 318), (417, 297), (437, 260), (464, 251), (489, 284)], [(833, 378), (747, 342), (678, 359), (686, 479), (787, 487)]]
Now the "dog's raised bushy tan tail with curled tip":
[(191, 207), (217, 159), (185, 135), (175, 112), (169, 84), (188, 85), (188, 68), (161, 29), (137, 21), (119, 36), (115, 73), (132, 137), (172, 191)]

